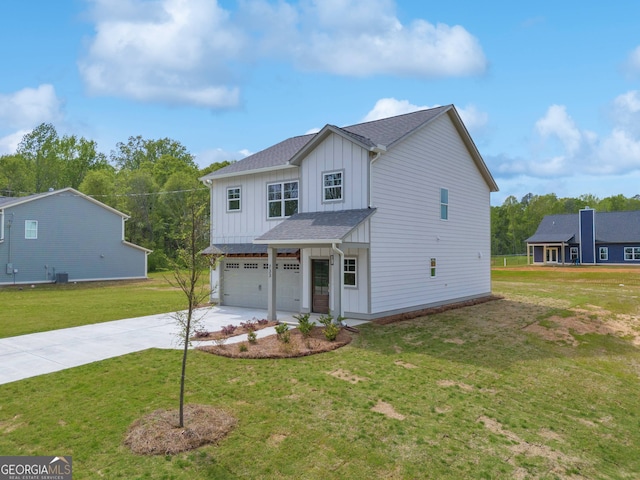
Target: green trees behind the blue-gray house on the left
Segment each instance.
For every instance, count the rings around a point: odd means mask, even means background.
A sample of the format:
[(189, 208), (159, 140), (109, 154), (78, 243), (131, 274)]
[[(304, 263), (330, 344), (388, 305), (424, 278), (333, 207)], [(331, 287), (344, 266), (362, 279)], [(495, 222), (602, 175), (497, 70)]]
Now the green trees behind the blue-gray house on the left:
[[(53, 125), (43, 123), (22, 138), (15, 154), (0, 156), (0, 196), (72, 187), (94, 197), (130, 215), (125, 237), (153, 250), (153, 271), (176, 259), (187, 205), (209, 204), (208, 189), (198, 178), (229, 163), (200, 169), (180, 142), (141, 136), (119, 142), (107, 156), (96, 142), (60, 137)], [(203, 221), (208, 232), (208, 216)]]

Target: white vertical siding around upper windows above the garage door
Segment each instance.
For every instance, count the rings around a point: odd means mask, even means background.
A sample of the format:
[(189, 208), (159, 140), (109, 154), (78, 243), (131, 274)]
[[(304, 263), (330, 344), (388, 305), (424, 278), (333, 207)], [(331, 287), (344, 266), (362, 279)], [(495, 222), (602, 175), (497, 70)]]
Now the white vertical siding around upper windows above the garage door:
[[(291, 180), (299, 181), (297, 167), (215, 180), (211, 189), (211, 243), (252, 243), (282, 222), (283, 218), (267, 219), (267, 185)], [(239, 212), (227, 212), (229, 187), (241, 188)], [(302, 185), (298, 188), (298, 195), (302, 195)]]

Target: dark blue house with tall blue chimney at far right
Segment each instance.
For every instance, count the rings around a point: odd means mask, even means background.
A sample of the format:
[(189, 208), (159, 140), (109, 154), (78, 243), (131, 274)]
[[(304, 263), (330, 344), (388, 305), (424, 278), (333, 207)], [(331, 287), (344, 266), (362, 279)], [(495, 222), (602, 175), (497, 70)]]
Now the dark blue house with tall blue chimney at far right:
[(547, 215), (527, 238), (527, 263), (640, 265), (640, 211)]

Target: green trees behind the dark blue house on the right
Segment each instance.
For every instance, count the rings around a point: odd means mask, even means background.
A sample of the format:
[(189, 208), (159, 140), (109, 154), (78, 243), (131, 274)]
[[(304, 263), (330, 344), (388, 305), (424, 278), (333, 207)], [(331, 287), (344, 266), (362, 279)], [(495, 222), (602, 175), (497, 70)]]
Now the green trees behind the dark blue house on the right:
[(526, 239), (536, 232), (545, 215), (577, 214), (585, 207), (599, 212), (640, 210), (640, 195), (630, 198), (614, 195), (600, 199), (591, 194), (558, 198), (555, 193), (528, 193), (519, 201), (514, 196), (507, 197), (502, 205), (491, 207), (491, 254), (524, 254), (527, 251)]

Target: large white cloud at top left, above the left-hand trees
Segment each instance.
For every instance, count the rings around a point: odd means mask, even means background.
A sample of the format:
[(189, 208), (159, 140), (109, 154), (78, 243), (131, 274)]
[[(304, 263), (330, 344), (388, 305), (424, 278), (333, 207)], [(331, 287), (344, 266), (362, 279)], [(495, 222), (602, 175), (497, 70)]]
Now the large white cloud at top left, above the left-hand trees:
[(245, 37), (209, 0), (96, 0), (96, 35), (80, 72), (97, 95), (231, 108), (228, 63)]

